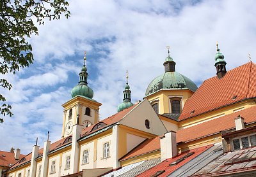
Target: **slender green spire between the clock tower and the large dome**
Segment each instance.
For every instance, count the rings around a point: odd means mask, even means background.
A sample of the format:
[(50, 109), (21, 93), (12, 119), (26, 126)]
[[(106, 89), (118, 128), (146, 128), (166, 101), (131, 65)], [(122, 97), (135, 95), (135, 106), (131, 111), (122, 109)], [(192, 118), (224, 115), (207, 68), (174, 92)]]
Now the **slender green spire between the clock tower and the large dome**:
[(133, 104), (131, 103), (131, 90), (130, 90), (130, 86), (128, 84), (128, 71), (126, 71), (126, 84), (124, 87), (124, 99), (123, 99), (123, 103), (119, 104), (117, 107), (117, 111), (120, 112), (126, 108), (131, 107)]

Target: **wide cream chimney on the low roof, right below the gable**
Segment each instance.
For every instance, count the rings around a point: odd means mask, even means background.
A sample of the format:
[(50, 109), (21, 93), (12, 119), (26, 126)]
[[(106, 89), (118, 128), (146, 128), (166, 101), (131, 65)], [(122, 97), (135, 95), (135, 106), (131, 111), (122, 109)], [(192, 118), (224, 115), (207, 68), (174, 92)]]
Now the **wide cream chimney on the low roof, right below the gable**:
[(177, 155), (176, 132), (170, 131), (160, 138), (161, 161), (170, 159)]

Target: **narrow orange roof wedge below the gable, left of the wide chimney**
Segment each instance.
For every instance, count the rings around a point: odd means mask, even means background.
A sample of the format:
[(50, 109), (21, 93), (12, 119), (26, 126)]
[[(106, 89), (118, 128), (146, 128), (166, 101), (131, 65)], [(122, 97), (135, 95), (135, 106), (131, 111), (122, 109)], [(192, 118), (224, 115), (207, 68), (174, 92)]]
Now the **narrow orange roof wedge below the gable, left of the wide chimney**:
[(127, 155), (122, 157), (120, 160), (123, 161), (123, 160), (130, 159), (131, 157), (136, 157), (138, 155), (143, 155), (145, 153), (150, 153), (156, 150), (160, 150), (160, 137), (161, 136), (157, 136), (156, 138), (146, 139), (136, 148), (131, 150), (131, 152), (127, 153)]

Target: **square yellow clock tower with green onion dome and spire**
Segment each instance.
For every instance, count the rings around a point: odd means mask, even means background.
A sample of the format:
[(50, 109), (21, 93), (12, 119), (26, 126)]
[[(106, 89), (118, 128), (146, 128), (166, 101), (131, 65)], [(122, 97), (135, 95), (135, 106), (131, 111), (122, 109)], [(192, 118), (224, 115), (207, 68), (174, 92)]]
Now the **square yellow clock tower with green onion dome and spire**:
[(77, 119), (84, 128), (99, 122), (101, 103), (92, 99), (93, 90), (88, 86), (87, 78), (86, 52), (84, 52), (84, 65), (79, 73), (78, 85), (71, 90), (72, 99), (62, 104), (64, 108), (62, 138), (72, 134), (72, 127)]

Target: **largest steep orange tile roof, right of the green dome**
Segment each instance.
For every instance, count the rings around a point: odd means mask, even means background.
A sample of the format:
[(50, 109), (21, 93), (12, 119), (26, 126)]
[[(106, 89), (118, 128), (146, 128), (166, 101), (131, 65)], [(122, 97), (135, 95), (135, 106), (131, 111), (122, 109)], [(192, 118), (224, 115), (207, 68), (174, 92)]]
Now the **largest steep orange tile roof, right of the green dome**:
[[(256, 64), (248, 62), (228, 71), (220, 80), (217, 76), (205, 80), (186, 101), (179, 120), (195, 117), (243, 99), (256, 97)], [(232, 99), (236, 96), (236, 99)], [(194, 111), (191, 114), (191, 111)]]

